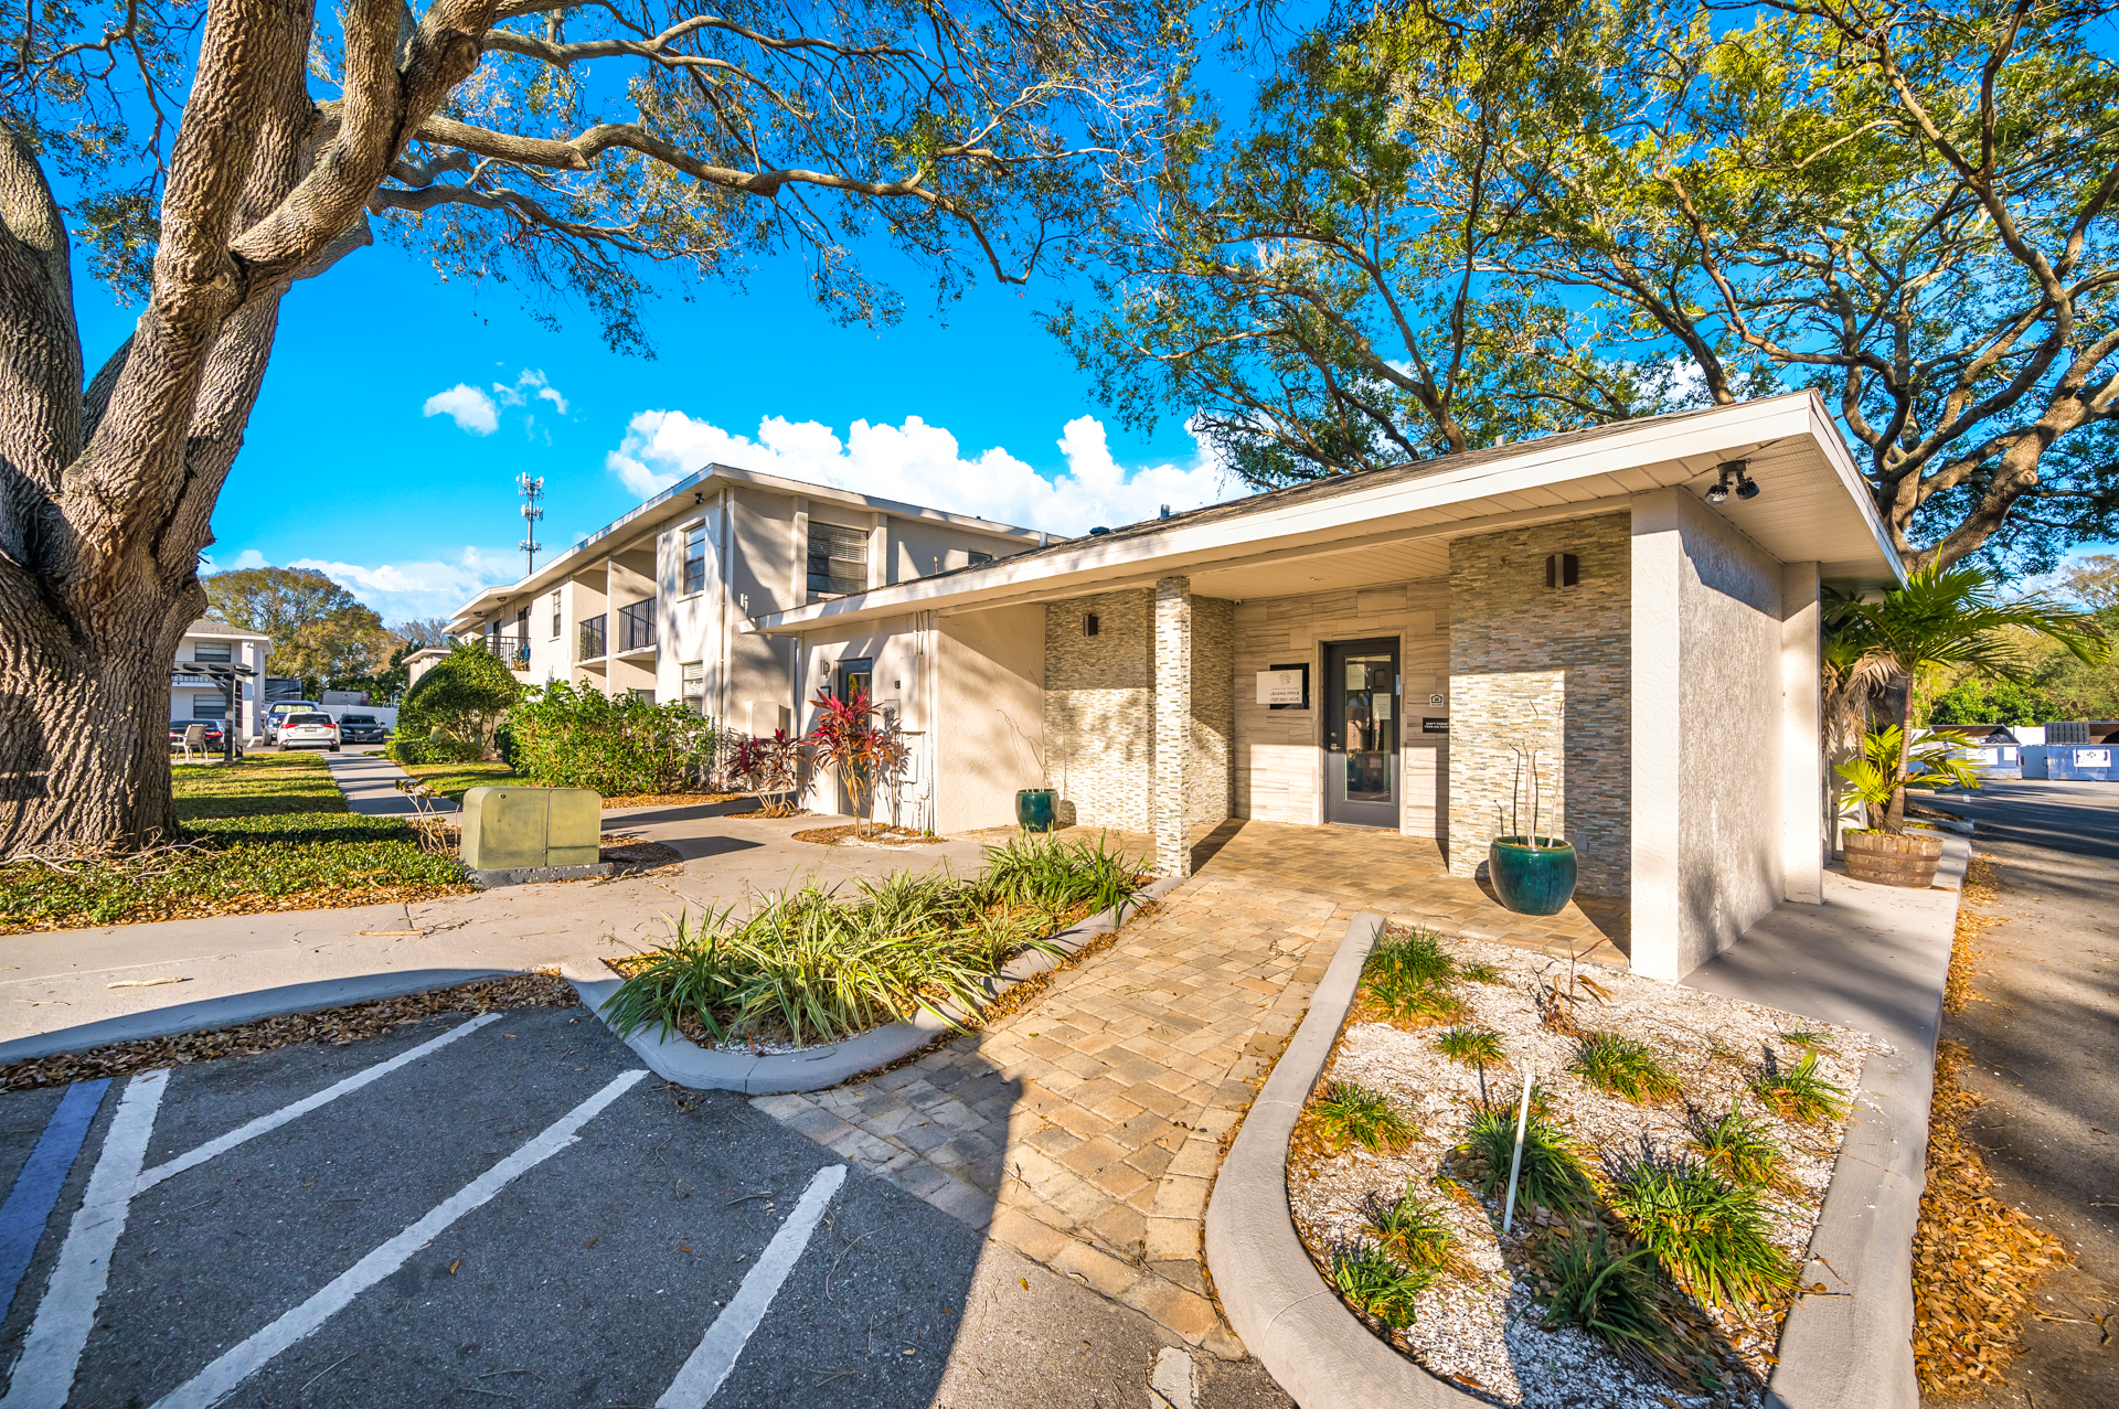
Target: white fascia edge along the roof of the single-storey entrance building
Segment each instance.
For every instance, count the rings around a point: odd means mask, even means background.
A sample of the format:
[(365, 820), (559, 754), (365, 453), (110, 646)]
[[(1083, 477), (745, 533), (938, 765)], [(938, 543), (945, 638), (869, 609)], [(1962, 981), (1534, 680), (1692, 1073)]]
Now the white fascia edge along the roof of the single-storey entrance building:
[[(903, 617), (945, 606), (956, 608), (973, 602), (985, 604), (985, 600), (992, 600), (990, 604), (998, 606), (1000, 600), (1019, 602), (1032, 595), (1060, 598), (1076, 595), (1079, 591), (1089, 589), (1104, 591), (1104, 583), (1110, 578), (1129, 576), (1127, 568), (1136, 570), (1132, 576), (1146, 574), (1153, 578), (1155, 572), (1146, 570), (1146, 564), (1157, 559), (1210, 555), (1216, 551), (1240, 549), (1246, 542), (1257, 542), (1267, 536), (1286, 538), (1303, 532), (1316, 534), (1346, 530), (1369, 517), (1365, 513), (1367, 506), (1386, 500), (1390, 502), (1392, 515), (1403, 515), (1479, 498), (1519, 494), (1524, 489), (1536, 489), (1564, 479), (1602, 475), (1608, 472), (1602, 466), (1579, 466), (1572, 475), (1555, 475), (1553, 470), (1568, 468), (1591, 458), (1606, 460), (1613, 451), (1623, 453), (1630, 445), (1655, 447), (1653, 462), (1666, 462), (1687, 460), (1691, 456), (1750, 453), (1750, 449), (1791, 436), (1810, 436), (1810, 441), (1824, 453), (1833, 475), (1839, 479), (1848, 498), (1854, 500), (1856, 511), (1863, 515), (1863, 523), (1875, 540), (1880, 559), (1903, 583), (1905, 568), (1899, 564), (1899, 555), (1890, 547), (1884, 521), (1875, 513), (1867, 483), (1854, 468), (1854, 460), (1846, 449), (1846, 441), (1839, 436), (1837, 424), (1824, 409), (1822, 398), (1818, 398), (1812, 390), (1803, 390), (1788, 392), (1786, 396), (1744, 400), (1731, 407), (1714, 407), (1710, 411), (1693, 413), (1676, 424), (1646, 420), (1617, 422), (1610, 426), (1610, 434), (1600, 434), (1596, 439), (1566, 439), (1557, 445), (1553, 443), (1557, 436), (1524, 441), (1521, 453), (1517, 456), (1481, 458), (1473, 464), (1443, 468), (1441, 472), (1413, 481), (1390, 479), (1375, 485), (1356, 483), (1341, 494), (1320, 500), (1290, 498), (1276, 502), (1276, 496), (1284, 492), (1274, 489), (1252, 496), (1257, 506), (1237, 513), (1235, 517), (1225, 515), (1210, 521), (1189, 521), (1187, 517), (1178, 517), (1172, 519), (1168, 528), (1151, 530), (1144, 536), (1115, 540), (1076, 538), (1057, 553), (1038, 553), (1032, 559), (1002, 557), (992, 564), (981, 564), (979, 568), (945, 576), (915, 578), (911, 583), (894, 583), (890, 587), (871, 587), (867, 591), (848, 593), (829, 602), (812, 602), (782, 612), (759, 614), (744, 621), (742, 629), (746, 634), (793, 636), (801, 629), (837, 625), (839, 621), (852, 625), (854, 621)], [(1630, 500), (1632, 496), (1623, 498)], [(1242, 502), (1244, 500), (1237, 500), (1237, 504)], [(1587, 513), (1613, 513), (1619, 506), (1621, 504), (1610, 498), (1600, 498), (1577, 504), (1553, 504), (1543, 511), (1481, 515), (1479, 519), (1464, 521), (1462, 528), (1456, 523), (1437, 523), (1428, 536), (1460, 536), (1464, 532), (1479, 532), (1473, 528), (1477, 521), (1572, 519)], [(1218, 504), (1216, 509), (1229, 509), (1229, 504)], [(1148, 523), (1153, 523), (1153, 519)], [(1261, 528), (1267, 525), (1278, 532), (1261, 532)], [(1390, 532), (1390, 538), (1403, 536), (1403, 532)], [(1337, 540), (1333, 551), (1343, 547), (1348, 547), (1348, 542)], [(1204, 557), (1201, 566), (1206, 561), (1216, 559)], [(1072, 578), (1074, 585), (1070, 587), (1060, 578)]]

